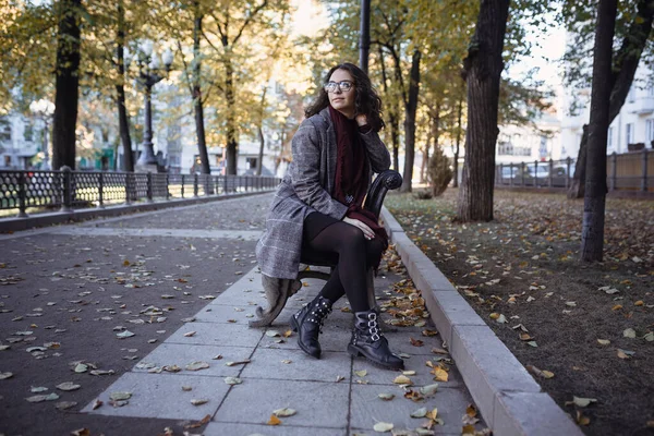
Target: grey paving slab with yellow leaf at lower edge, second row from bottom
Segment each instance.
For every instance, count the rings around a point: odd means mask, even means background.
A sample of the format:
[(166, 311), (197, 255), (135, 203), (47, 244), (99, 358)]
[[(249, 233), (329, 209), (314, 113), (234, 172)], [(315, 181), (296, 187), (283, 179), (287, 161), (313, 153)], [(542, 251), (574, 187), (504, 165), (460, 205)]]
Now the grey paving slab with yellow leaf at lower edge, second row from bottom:
[(349, 385), (342, 382), (243, 378), (243, 384), (230, 390), (214, 421), (265, 424), (274, 410), (291, 408), (298, 413), (282, 419), (284, 424), (344, 428), (349, 389)]

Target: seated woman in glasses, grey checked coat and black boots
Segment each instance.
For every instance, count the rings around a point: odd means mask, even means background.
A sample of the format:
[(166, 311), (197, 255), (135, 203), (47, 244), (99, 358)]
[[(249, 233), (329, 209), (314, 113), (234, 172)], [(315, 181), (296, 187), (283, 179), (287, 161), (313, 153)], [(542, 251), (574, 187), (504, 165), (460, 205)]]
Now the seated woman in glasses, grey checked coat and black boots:
[(270, 206), (257, 261), (266, 276), (295, 279), (302, 251), (337, 254), (338, 266), (319, 295), (291, 317), (300, 348), (320, 358), (320, 327), (347, 294), (355, 317), (348, 352), (400, 370), (403, 362), (390, 352), (366, 288), (367, 269), (379, 265), (388, 246), (384, 228), (361, 208), (373, 172), (390, 167), (377, 135), (382, 100), (352, 63), (334, 66), (326, 78), (293, 136), (293, 161)]

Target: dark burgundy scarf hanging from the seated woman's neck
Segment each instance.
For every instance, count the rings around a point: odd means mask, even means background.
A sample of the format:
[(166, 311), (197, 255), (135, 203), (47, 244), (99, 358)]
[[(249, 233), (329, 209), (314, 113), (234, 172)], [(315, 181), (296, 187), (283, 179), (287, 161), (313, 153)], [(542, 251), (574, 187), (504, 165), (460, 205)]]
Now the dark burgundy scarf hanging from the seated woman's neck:
[[(384, 249), (388, 247), (386, 229), (377, 223), (375, 214), (362, 208), (370, 179), (365, 146), (359, 138), (356, 121), (348, 119), (329, 106), (337, 144), (336, 185), (332, 197), (348, 206), (346, 216), (368, 226), (376, 238), (380, 238)], [(378, 265), (375, 265), (377, 268)]]

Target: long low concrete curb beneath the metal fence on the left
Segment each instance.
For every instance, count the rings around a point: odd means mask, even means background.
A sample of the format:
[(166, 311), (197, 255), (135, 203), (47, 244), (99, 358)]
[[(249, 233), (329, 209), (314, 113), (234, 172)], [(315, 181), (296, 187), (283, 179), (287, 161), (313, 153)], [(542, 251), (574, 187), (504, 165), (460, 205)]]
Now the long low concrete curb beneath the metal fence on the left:
[(53, 211), (53, 213), (46, 213), (46, 214), (37, 214), (34, 216), (28, 216), (26, 218), (2, 218), (2, 219), (0, 219), (0, 233), (28, 230), (28, 229), (33, 229), (35, 227), (47, 227), (47, 226), (60, 225), (60, 223), (64, 223), (64, 222), (84, 221), (84, 220), (97, 218), (97, 217), (114, 217), (114, 216), (119, 216), (119, 215), (134, 214), (134, 213), (138, 213), (138, 211), (158, 210), (158, 209), (166, 209), (169, 207), (190, 206), (190, 205), (216, 202), (216, 201), (221, 201), (221, 199), (239, 198), (239, 197), (244, 197), (244, 196), (265, 194), (265, 193), (269, 193), (272, 191), (274, 190), (265, 190), (265, 191), (246, 192), (246, 193), (240, 193), (240, 194), (221, 194), (221, 195), (211, 195), (211, 196), (207, 196), (207, 197), (170, 199), (170, 201), (154, 202), (154, 203), (140, 203), (140, 204), (134, 204), (134, 205), (122, 204), (122, 205), (118, 205), (118, 206), (106, 206), (104, 208), (77, 209), (77, 210), (71, 210), (71, 211)]

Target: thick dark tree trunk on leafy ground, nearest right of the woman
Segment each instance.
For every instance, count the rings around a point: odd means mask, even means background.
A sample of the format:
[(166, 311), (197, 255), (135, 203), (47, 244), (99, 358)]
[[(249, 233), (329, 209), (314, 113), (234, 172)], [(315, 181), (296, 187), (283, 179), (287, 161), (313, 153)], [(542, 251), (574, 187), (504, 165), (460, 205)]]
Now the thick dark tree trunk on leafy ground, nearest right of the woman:
[(495, 182), (495, 144), (501, 52), (510, 0), (483, 0), (477, 25), (463, 63), (468, 83), (465, 162), (457, 219), (491, 221)]

